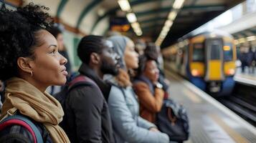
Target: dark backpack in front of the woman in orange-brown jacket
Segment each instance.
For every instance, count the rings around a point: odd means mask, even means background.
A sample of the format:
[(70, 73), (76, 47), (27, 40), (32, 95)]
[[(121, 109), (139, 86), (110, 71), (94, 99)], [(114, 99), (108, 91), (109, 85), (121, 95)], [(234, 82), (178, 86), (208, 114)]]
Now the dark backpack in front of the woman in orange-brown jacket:
[(171, 141), (183, 142), (189, 138), (189, 118), (186, 109), (171, 99), (163, 101), (156, 115), (156, 126), (169, 135)]

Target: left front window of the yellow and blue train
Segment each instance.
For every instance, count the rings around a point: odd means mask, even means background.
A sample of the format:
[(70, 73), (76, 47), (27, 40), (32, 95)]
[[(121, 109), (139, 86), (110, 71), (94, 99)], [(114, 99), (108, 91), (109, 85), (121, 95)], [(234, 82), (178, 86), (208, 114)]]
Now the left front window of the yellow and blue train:
[(193, 49), (193, 61), (204, 61), (204, 49), (203, 44), (194, 44)]

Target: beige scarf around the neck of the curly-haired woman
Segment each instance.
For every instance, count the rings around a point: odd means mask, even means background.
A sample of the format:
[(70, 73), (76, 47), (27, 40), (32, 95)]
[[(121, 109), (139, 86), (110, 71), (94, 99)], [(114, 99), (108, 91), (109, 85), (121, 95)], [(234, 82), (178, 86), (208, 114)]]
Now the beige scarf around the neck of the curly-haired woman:
[(7, 81), (6, 101), (2, 108), (0, 119), (6, 114), (21, 114), (42, 122), (47, 128), (53, 142), (70, 142), (63, 129), (58, 125), (62, 121), (64, 112), (60, 103), (46, 92), (42, 93), (29, 82), (17, 77)]

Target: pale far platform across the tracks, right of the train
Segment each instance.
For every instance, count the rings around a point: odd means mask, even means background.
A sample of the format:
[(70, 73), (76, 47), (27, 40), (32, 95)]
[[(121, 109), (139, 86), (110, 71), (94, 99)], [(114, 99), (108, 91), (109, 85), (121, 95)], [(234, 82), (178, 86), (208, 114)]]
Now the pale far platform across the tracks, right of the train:
[(252, 72), (246, 67), (245, 72), (242, 73), (242, 69), (238, 67), (236, 74), (234, 75), (234, 80), (243, 84), (256, 86), (256, 69), (254, 72)]

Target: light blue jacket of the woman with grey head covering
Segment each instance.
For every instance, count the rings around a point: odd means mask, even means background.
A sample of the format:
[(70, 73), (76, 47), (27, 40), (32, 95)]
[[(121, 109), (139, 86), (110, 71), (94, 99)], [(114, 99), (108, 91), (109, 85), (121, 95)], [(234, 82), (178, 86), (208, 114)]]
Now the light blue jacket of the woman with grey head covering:
[(149, 128), (156, 126), (139, 117), (138, 101), (131, 87), (112, 86), (108, 97), (108, 105), (116, 142), (169, 142), (167, 134), (149, 131)]

